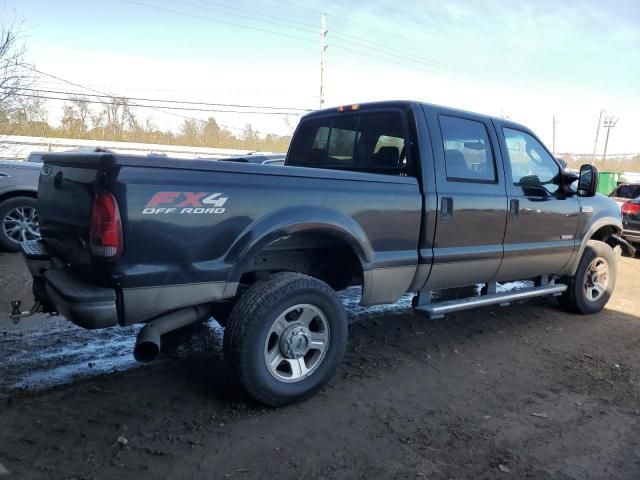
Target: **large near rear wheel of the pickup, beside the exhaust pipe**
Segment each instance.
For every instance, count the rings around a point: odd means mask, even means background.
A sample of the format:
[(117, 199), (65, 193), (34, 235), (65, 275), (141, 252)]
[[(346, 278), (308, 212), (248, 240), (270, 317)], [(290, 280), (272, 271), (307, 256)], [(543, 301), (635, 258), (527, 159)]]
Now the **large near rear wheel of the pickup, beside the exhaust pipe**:
[(227, 321), (225, 358), (256, 400), (304, 400), (334, 375), (347, 343), (340, 299), (324, 282), (278, 273), (252, 285)]

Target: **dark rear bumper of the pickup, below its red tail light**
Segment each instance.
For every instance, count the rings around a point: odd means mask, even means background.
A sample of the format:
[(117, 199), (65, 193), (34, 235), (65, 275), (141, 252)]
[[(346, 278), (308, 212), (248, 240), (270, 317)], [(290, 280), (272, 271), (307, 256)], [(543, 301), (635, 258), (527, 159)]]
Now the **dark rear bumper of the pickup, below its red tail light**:
[(91, 330), (118, 324), (115, 290), (92, 285), (68, 269), (56, 268), (41, 242), (24, 242), (22, 253), (33, 276), (36, 300), (49, 310)]

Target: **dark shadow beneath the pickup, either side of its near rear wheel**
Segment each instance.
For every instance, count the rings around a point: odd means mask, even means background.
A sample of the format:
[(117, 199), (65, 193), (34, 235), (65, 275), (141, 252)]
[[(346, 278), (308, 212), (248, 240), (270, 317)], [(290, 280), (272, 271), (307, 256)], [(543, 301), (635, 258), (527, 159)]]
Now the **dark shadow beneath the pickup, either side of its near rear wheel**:
[[(441, 300), (477, 294), (479, 287), (466, 287), (448, 292)], [(416, 315), (411, 309), (412, 295), (393, 305), (362, 307), (359, 292), (352, 289), (342, 294), (349, 320), (349, 344), (338, 380), (377, 377), (394, 370), (403, 362), (422, 362), (433, 366), (431, 359), (455, 355), (469, 345), (481, 345), (484, 339), (498, 337), (526, 338), (532, 331), (562, 331), (580, 328), (585, 322), (599, 322), (612, 313), (582, 317), (559, 309), (555, 299), (539, 298), (508, 307), (485, 307), (451, 314), (445, 319), (431, 320)], [(615, 312), (616, 315), (626, 314)], [(222, 353), (223, 328), (211, 320), (204, 324), (174, 332), (163, 343), (165, 365), (181, 379), (188, 379), (195, 395), (214, 397), (224, 402), (255, 403), (239, 388), (228, 370)], [(164, 341), (164, 340), (163, 340)]]

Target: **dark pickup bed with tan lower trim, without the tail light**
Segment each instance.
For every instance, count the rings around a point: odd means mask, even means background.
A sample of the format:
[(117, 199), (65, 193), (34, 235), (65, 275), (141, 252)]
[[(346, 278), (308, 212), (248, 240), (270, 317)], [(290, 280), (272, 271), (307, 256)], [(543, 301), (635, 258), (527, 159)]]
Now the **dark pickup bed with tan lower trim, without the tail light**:
[[(47, 249), (73, 275), (113, 288), (124, 305), (121, 323), (232, 296), (252, 248), (309, 225), (339, 240), (358, 236), (366, 271), (408, 267), (398, 296), (418, 263), (422, 197), (411, 177), (72, 153), (44, 156), (39, 189)], [(92, 199), (103, 190), (117, 200), (122, 219), (117, 262), (96, 258), (88, 247)]]

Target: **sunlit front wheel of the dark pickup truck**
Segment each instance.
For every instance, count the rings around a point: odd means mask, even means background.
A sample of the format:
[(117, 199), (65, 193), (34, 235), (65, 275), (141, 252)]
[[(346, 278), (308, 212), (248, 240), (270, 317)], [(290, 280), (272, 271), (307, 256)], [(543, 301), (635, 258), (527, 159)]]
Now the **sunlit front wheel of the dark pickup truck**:
[(576, 274), (567, 280), (569, 288), (560, 297), (561, 304), (576, 313), (599, 312), (611, 298), (617, 267), (615, 253), (609, 245), (589, 240)]

